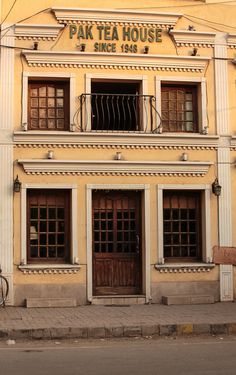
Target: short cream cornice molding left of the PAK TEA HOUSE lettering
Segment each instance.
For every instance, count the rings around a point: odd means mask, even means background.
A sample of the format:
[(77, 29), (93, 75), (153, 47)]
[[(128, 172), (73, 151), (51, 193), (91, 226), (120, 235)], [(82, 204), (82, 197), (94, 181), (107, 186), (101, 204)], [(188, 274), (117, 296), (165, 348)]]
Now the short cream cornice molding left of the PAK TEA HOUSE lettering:
[(16, 24), (14, 27), (17, 39), (29, 40), (55, 40), (64, 25), (37, 25), (37, 24)]

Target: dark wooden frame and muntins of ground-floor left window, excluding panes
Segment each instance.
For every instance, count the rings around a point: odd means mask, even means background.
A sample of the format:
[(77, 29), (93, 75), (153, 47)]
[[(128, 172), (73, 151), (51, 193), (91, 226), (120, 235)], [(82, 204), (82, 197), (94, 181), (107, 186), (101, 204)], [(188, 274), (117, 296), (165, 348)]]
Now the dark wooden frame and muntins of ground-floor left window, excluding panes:
[[(40, 197), (41, 196), (41, 197)], [(55, 202), (52, 204), (52, 200)], [(49, 209), (55, 209), (58, 210), (59, 205), (61, 206), (61, 203), (59, 203), (59, 200), (64, 201), (62, 207), (64, 209), (65, 215), (64, 219), (59, 218), (59, 216), (56, 217), (54, 220), (53, 218), (49, 218)], [(51, 202), (50, 202), (51, 201)], [(34, 202), (34, 203), (32, 203)], [(35, 203), (38, 202), (38, 203)], [(43, 204), (40, 204), (44, 202)], [(32, 203), (32, 204), (31, 204)], [(46, 206), (46, 207), (45, 207)], [(47, 216), (44, 219), (41, 219), (40, 217), (40, 207), (47, 211)], [(69, 263), (70, 257), (71, 257), (71, 220), (70, 220), (70, 211), (71, 211), (71, 194), (70, 190), (68, 189), (32, 189), (28, 190), (27, 193), (27, 263), (28, 264), (48, 264), (48, 263), (55, 263), (55, 264), (64, 264)], [(36, 217), (31, 216), (30, 209), (34, 208), (37, 210)], [(46, 229), (41, 230), (41, 223), (45, 223)], [(55, 223), (55, 231), (52, 231), (49, 229), (49, 224)], [(59, 224), (62, 223), (63, 230), (58, 230)], [(32, 230), (31, 228), (34, 227)], [(37, 229), (36, 229), (37, 228)], [(46, 238), (46, 243), (43, 245), (40, 242), (41, 237), (44, 236)], [(60, 237), (62, 235), (64, 237), (64, 256), (58, 256), (58, 252), (60, 248), (63, 248), (63, 246), (60, 246), (58, 244), (58, 240), (55, 240), (55, 246), (50, 245), (49, 243), (49, 237), (55, 236), (55, 238)], [(32, 238), (33, 237), (33, 238)], [(31, 241), (31, 242), (30, 242)], [(37, 248), (37, 256), (31, 256), (31, 244), (34, 247), (34, 250)], [(61, 244), (63, 245), (63, 244)], [(43, 246), (46, 249), (46, 256), (40, 256), (40, 248)], [(52, 248), (56, 251), (57, 256), (49, 256)]]

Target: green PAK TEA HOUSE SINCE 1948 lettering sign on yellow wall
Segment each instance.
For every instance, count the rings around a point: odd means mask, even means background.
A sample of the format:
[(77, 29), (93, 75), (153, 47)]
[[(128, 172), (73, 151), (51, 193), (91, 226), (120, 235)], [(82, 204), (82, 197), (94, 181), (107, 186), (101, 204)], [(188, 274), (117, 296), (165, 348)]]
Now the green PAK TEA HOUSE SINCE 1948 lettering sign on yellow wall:
[(84, 46), (85, 42), (93, 41), (94, 52), (137, 53), (137, 43), (160, 43), (162, 41), (161, 33), (162, 29), (155, 27), (69, 26), (69, 38), (76, 38)]

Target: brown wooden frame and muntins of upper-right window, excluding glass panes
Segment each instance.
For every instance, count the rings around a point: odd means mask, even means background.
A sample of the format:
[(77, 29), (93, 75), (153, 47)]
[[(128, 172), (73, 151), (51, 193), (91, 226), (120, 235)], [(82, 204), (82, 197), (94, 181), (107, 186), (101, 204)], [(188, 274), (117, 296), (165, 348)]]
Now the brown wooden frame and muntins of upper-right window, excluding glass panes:
[[(184, 95), (184, 101), (183, 101), (183, 104), (185, 106), (185, 108), (183, 108), (181, 111), (178, 110), (178, 104), (180, 103), (180, 99), (179, 99), (179, 92), (182, 92)], [(171, 92), (176, 92), (176, 99), (174, 100), (174, 103), (175, 103), (175, 109), (172, 110), (172, 112), (176, 112), (175, 113), (175, 119), (174, 120), (171, 120), (171, 116), (170, 116), (170, 112), (171, 112), (171, 100), (167, 100), (167, 105), (168, 105), (168, 110), (166, 110), (165, 112), (167, 113), (167, 119), (164, 119), (163, 117), (163, 114), (164, 114), (164, 110), (163, 110), (163, 102), (164, 102), (164, 93), (168, 93), (170, 94)], [(188, 103), (187, 99), (186, 99), (186, 96), (187, 94), (191, 94), (192, 95), (192, 109), (191, 110), (187, 110), (186, 109), (186, 103)], [(164, 133), (168, 133), (168, 132), (174, 132), (174, 133), (198, 133), (199, 132), (199, 127), (198, 127), (198, 87), (196, 84), (173, 84), (173, 83), (163, 83), (161, 85), (161, 101), (162, 101), (162, 113), (161, 113), (161, 118), (162, 118), (162, 131)], [(186, 118), (186, 115), (187, 113), (191, 113), (192, 114), (192, 121), (188, 120)], [(179, 119), (178, 120), (178, 117), (180, 115), (183, 115), (183, 119)], [(165, 126), (165, 122), (167, 123), (167, 125)], [(172, 125), (171, 122), (174, 124)], [(188, 122), (192, 122), (193, 123), (193, 128), (191, 130), (188, 130), (187, 128), (187, 124)], [(172, 129), (171, 126), (173, 126), (174, 128)]]

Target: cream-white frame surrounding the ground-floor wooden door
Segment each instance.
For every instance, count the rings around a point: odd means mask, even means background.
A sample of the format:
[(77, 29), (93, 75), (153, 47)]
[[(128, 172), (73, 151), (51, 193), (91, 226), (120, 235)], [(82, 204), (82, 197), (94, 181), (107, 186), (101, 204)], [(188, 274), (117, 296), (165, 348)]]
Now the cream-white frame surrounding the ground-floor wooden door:
[(142, 254), (142, 289), (148, 303), (151, 295), (150, 285), (150, 185), (148, 184), (88, 184), (87, 191), (87, 300), (93, 300), (93, 254), (92, 254), (92, 191), (93, 190), (139, 190), (144, 192), (143, 212), (143, 254)]

